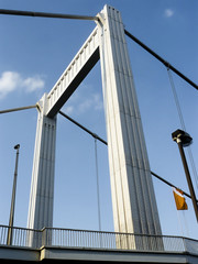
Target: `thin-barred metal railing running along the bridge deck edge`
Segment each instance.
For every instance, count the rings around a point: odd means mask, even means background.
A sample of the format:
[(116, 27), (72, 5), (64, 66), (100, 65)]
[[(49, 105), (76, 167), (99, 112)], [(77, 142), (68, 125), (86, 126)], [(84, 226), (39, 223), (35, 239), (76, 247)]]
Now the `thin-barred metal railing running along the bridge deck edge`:
[[(8, 226), (0, 226), (0, 245), (8, 245)], [(100, 232), (89, 230), (12, 228), (12, 246), (62, 246), (146, 252), (189, 252), (198, 255), (198, 240), (170, 235)]]

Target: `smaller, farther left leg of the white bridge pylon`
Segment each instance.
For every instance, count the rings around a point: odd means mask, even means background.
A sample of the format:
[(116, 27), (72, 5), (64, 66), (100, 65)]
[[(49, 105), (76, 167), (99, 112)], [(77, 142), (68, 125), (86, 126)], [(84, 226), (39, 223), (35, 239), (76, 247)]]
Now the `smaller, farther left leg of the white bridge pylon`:
[(53, 226), (56, 118), (46, 114), (46, 94), (40, 105), (35, 139), (28, 228)]

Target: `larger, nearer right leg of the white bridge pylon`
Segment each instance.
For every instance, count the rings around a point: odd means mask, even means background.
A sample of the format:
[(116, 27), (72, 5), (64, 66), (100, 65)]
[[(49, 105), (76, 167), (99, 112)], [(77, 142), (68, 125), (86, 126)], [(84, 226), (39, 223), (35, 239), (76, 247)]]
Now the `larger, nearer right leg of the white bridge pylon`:
[(99, 16), (114, 231), (161, 234), (123, 23), (108, 6)]

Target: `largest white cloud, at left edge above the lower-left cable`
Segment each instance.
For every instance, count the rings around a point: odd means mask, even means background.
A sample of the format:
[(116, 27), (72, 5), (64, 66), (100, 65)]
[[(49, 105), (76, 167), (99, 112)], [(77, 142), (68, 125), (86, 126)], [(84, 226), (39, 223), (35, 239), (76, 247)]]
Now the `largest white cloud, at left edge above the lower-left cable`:
[(24, 78), (16, 72), (4, 72), (0, 76), (0, 99), (16, 89), (33, 92), (43, 89), (44, 85), (41, 76)]

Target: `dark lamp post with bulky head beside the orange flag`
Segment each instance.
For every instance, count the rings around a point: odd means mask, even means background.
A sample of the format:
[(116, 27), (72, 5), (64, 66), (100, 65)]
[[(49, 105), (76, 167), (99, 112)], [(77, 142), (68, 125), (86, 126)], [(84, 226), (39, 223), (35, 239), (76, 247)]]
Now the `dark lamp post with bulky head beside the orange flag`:
[(196, 201), (196, 195), (195, 195), (193, 182), (191, 182), (189, 169), (188, 169), (188, 164), (187, 164), (186, 156), (185, 156), (184, 148), (183, 148), (185, 146), (190, 145), (193, 143), (193, 139), (188, 133), (186, 133), (183, 130), (176, 130), (175, 132), (173, 132), (172, 139), (177, 143), (178, 148), (179, 148), (180, 157), (183, 161), (183, 166), (184, 166), (185, 174), (186, 174), (186, 179), (188, 183), (188, 188), (189, 188), (189, 191), (191, 195), (195, 215), (196, 215), (196, 218), (198, 221), (198, 206), (197, 206), (197, 201)]

